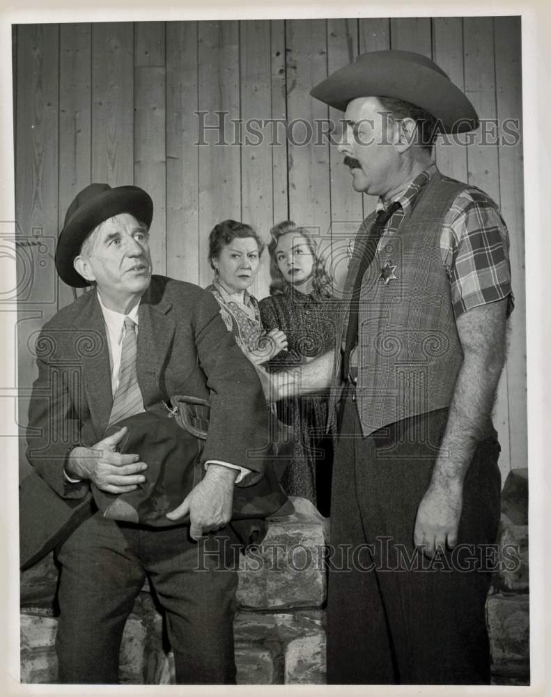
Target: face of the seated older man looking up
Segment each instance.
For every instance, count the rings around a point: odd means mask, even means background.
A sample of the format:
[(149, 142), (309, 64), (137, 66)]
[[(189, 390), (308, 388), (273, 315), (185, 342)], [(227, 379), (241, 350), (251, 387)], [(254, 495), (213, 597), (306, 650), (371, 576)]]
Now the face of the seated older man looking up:
[[(98, 284), (111, 309), (139, 298), (151, 279), (148, 229), (130, 213), (121, 213), (99, 225), (82, 245), (75, 268)], [(123, 310), (124, 311), (124, 310)]]

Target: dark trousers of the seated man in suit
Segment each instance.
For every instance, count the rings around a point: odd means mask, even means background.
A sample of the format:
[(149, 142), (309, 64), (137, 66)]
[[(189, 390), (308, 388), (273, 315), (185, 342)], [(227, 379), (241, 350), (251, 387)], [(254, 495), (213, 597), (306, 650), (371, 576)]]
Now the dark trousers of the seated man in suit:
[(235, 684), (233, 619), (239, 541), (201, 542), (189, 526), (118, 524), (100, 513), (61, 546), (59, 682), (116, 683), (123, 629), (146, 573), (164, 607), (180, 684)]

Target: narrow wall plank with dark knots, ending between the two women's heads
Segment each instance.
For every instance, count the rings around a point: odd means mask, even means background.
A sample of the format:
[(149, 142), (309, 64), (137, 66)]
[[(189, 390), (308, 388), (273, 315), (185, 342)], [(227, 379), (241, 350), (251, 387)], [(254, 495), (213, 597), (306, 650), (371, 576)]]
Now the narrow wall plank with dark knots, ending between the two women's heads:
[(289, 217), (287, 137), (287, 75), (285, 49), (285, 21), (271, 20), (272, 45), (272, 224)]

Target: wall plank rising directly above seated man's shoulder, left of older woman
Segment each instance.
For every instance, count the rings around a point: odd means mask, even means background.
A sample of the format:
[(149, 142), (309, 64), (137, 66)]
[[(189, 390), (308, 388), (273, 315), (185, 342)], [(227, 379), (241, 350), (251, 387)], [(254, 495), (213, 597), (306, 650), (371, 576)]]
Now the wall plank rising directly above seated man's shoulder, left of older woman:
[(199, 283), (197, 22), (166, 22), (166, 272)]

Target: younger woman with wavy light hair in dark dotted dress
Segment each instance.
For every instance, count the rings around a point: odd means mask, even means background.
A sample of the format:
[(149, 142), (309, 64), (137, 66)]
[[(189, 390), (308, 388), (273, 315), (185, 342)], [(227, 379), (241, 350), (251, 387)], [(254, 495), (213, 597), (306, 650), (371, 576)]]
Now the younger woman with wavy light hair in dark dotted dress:
[[(308, 231), (287, 220), (270, 233), (271, 295), (259, 306), (264, 328), (278, 328), (287, 337), (287, 350), (264, 366), (270, 372), (280, 372), (334, 349), (336, 303), (332, 302), (332, 279)], [(281, 485), (290, 496), (308, 498), (328, 516), (333, 449), (331, 436), (325, 434), (327, 399), (283, 399), (277, 403), (277, 413), (295, 433), (293, 459)]]

